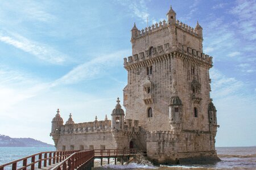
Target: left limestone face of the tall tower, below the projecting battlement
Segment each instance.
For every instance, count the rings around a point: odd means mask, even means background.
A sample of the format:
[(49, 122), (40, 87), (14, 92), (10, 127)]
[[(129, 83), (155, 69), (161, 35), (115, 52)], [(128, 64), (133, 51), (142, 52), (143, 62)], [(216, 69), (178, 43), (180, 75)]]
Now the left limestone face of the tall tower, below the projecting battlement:
[[(124, 90), (126, 118), (139, 120), (139, 126), (143, 126), (146, 130), (170, 129), (168, 123), (168, 101), (171, 97), (170, 62), (170, 56), (165, 56), (164, 59), (150, 63), (151, 75), (147, 75), (146, 65), (128, 70), (128, 83)], [(152, 104), (145, 104), (143, 101), (145, 95), (143, 84), (148, 78), (154, 86), (150, 92), (154, 100)], [(153, 112), (152, 117), (147, 116), (147, 109), (150, 107)]]

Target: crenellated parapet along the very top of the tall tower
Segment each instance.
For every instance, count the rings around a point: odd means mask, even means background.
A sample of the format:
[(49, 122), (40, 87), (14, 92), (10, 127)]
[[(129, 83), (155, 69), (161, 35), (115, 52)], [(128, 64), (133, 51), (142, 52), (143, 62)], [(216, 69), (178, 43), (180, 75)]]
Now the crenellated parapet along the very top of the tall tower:
[[(134, 39), (139, 39), (144, 36), (151, 35), (152, 33), (161, 31), (162, 29), (171, 27), (170, 23), (167, 23), (166, 20), (160, 21), (159, 23), (152, 24), (149, 27), (146, 27), (142, 30), (138, 30), (137, 36)], [(196, 29), (193, 27), (176, 20), (175, 27), (182, 29), (183, 31), (189, 33), (190, 35), (196, 36), (197, 38), (201, 38), (200, 35), (197, 34)]]

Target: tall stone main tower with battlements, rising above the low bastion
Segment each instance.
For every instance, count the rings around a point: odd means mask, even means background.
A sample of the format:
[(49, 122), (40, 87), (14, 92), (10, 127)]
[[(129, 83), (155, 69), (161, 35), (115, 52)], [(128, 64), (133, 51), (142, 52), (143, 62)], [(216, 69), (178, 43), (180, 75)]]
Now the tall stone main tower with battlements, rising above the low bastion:
[(158, 163), (218, 160), (216, 109), (210, 99), (212, 57), (203, 53), (203, 28), (176, 20), (131, 29), (132, 56), (123, 90), (126, 120), (146, 131), (147, 155)]

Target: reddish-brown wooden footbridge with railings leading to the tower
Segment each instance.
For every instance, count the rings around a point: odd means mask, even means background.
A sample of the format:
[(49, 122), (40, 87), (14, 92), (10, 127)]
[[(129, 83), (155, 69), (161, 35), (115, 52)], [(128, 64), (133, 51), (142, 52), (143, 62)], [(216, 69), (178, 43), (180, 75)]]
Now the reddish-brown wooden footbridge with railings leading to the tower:
[(13, 162), (0, 165), (0, 170), (73, 170), (73, 169), (92, 169), (94, 167), (94, 159), (114, 158), (115, 164), (117, 159), (121, 159), (123, 164), (124, 159), (129, 160), (130, 156), (135, 156), (143, 153), (142, 150), (125, 149), (125, 150), (73, 150), (73, 151), (52, 151), (40, 152), (30, 155), (22, 159), (14, 160)]

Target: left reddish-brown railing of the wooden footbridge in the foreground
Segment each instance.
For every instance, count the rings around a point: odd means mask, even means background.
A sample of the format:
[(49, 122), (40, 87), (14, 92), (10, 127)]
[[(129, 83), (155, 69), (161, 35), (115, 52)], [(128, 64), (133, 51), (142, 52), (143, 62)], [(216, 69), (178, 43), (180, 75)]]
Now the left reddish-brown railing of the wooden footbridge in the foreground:
[(22, 159), (14, 160), (7, 164), (0, 165), (0, 170), (11, 166), (12, 170), (34, 170), (37, 164), (37, 168), (47, 167), (47, 165), (62, 162), (68, 158), (71, 154), (77, 151), (52, 151), (52, 152), (40, 152), (38, 154), (30, 155)]

